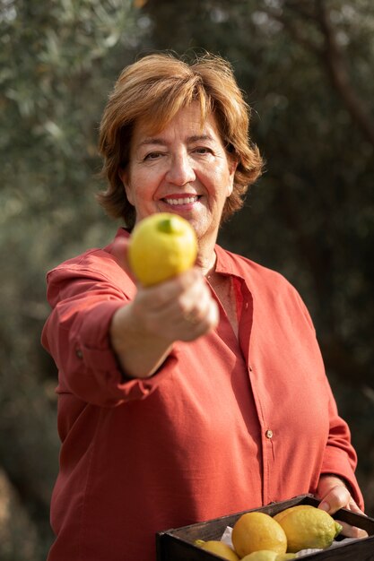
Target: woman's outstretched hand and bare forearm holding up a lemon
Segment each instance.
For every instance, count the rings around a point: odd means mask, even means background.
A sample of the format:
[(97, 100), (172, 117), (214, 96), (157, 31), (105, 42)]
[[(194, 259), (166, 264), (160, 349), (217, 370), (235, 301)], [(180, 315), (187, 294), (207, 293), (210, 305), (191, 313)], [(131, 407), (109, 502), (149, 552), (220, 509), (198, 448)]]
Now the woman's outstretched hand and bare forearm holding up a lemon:
[[(121, 240), (112, 254), (128, 273), (126, 241)], [(139, 286), (134, 300), (113, 315), (109, 336), (124, 373), (148, 377), (175, 341), (194, 341), (212, 330), (218, 319), (218, 306), (204, 276), (193, 268), (158, 285)]]

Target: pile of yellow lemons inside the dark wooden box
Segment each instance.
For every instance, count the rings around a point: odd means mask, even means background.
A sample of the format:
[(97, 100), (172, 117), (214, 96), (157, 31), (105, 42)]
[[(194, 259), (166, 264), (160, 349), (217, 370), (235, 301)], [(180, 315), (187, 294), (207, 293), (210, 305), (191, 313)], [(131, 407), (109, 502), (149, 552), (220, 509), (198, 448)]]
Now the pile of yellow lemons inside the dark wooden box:
[(331, 546), (342, 526), (311, 505), (291, 506), (274, 517), (260, 512), (242, 514), (232, 529), (230, 548), (222, 541), (202, 539), (196, 545), (229, 561), (283, 561), (300, 549)]

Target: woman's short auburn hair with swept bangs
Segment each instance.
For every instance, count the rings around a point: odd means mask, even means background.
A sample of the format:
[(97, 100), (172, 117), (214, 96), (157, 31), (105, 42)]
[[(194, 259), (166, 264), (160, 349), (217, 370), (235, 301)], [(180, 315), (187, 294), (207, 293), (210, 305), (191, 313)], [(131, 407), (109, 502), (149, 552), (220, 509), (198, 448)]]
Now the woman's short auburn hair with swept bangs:
[(232, 194), (222, 221), (244, 203), (244, 195), (261, 174), (262, 158), (248, 136), (250, 108), (243, 98), (230, 64), (221, 56), (204, 54), (187, 62), (171, 53), (144, 56), (120, 73), (100, 122), (99, 150), (103, 157), (102, 177), (109, 186), (97, 195), (109, 216), (123, 218), (128, 228), (135, 224), (119, 177), (129, 161), (135, 124), (142, 120), (160, 132), (178, 111), (197, 101), (202, 122), (213, 114), (228, 156), (238, 162)]

